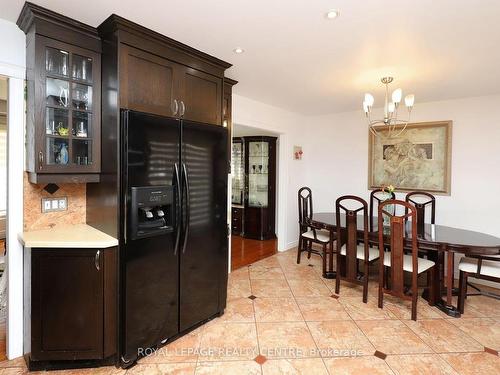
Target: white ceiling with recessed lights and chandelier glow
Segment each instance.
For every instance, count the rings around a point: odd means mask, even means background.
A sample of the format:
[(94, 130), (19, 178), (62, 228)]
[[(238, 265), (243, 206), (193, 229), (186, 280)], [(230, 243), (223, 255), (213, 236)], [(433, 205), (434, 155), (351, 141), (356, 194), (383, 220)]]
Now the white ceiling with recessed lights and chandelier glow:
[[(121, 15), (233, 63), (237, 94), (302, 114), (359, 109), (367, 90), (377, 106), (387, 74), (417, 106), (500, 93), (499, 0), (35, 2), (92, 26)], [(15, 22), (23, 1), (0, 3)]]

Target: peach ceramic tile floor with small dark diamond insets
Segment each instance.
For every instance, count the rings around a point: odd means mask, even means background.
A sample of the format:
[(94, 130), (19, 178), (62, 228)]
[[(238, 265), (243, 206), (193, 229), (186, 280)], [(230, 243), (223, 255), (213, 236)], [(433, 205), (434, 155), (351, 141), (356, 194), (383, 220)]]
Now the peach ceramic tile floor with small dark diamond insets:
[[(367, 304), (361, 288), (346, 282), (334, 298), (320, 258), (295, 259), (291, 250), (231, 273), (224, 316), (126, 373), (500, 374), (500, 301), (469, 297), (466, 314), (453, 319), (420, 299), (414, 322), (407, 303), (386, 297), (384, 309), (377, 307), (375, 281)], [(0, 362), (0, 375), (25, 371), (22, 359)]]

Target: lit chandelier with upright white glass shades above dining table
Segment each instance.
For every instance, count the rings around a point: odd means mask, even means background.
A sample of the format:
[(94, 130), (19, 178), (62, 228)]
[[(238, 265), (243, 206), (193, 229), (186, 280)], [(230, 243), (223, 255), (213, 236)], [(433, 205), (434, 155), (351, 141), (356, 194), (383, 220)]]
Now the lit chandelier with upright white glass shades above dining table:
[(384, 130), (387, 132), (385, 137), (387, 138), (397, 138), (399, 137), (408, 126), (410, 122), (411, 110), (415, 102), (415, 95), (410, 94), (405, 97), (405, 105), (407, 111), (407, 117), (405, 120), (398, 118), (399, 105), (401, 104), (401, 98), (403, 97), (403, 90), (396, 89), (392, 92), (391, 99), (389, 102), (389, 84), (394, 80), (393, 77), (383, 77), (381, 79), (382, 83), (385, 85), (385, 104), (384, 104), (384, 119), (383, 120), (372, 120), (372, 108), (375, 99), (370, 93), (365, 94), (365, 100), (363, 101), (363, 110), (365, 111), (366, 119), (368, 121), (368, 127), (370, 131), (375, 136), (381, 136), (380, 131)]

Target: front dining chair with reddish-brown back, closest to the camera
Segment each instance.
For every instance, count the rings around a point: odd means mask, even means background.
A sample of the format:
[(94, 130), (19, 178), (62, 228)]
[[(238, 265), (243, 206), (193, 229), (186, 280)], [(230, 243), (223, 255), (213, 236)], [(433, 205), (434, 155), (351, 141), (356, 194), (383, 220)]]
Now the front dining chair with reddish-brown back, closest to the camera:
[[(394, 212), (398, 212), (397, 206), (403, 206), (408, 210), (403, 216), (392, 214), (386, 210), (389, 205), (394, 205)], [(389, 217), (390, 227), (384, 231), (383, 217)], [(380, 274), (378, 307), (383, 307), (384, 294), (390, 294), (404, 300), (411, 301), (411, 318), (417, 320), (417, 299), (418, 299), (418, 275), (423, 272), (431, 273), (431, 287), (429, 304), (433, 305), (434, 296), (434, 270), (435, 263), (431, 260), (418, 257), (417, 236), (417, 210), (413, 205), (401, 200), (388, 200), (382, 202), (378, 207), (378, 237), (380, 253)], [(384, 235), (390, 234), (389, 251), (384, 252), (387, 245), (384, 242)], [(406, 250), (411, 254), (405, 254), (405, 238), (411, 236), (411, 247)], [(385, 273), (389, 272), (390, 287), (385, 281)], [(411, 287), (406, 292), (404, 285), (404, 273), (411, 273)]]

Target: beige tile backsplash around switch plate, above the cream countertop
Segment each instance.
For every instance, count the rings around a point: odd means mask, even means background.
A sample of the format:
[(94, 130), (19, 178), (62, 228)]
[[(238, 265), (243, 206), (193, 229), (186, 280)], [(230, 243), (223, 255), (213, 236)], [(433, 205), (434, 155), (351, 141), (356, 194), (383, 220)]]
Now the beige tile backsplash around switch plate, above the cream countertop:
[[(49, 229), (59, 225), (85, 223), (86, 184), (57, 184), (59, 189), (50, 194), (43, 188), (47, 184), (35, 185), (24, 175), (24, 230)], [(42, 213), (42, 198), (68, 198), (66, 211)]]

